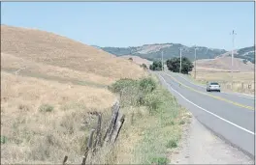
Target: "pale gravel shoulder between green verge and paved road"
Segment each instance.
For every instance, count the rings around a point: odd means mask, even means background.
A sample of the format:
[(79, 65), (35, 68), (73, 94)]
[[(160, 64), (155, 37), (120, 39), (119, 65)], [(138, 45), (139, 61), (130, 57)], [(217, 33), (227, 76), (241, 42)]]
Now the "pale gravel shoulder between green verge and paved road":
[(194, 117), (183, 129), (179, 147), (170, 155), (172, 164), (254, 164), (253, 159), (225, 143)]

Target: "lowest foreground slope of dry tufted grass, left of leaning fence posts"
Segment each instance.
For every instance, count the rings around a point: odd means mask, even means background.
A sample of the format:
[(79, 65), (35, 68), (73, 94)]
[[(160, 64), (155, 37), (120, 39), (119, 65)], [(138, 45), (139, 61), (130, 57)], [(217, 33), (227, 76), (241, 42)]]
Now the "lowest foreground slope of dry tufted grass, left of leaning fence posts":
[[(115, 97), (107, 90), (60, 84), (1, 72), (2, 163), (80, 163), (89, 111), (104, 111)], [(87, 120), (87, 121), (86, 121)], [(87, 123), (87, 124), (86, 124)]]

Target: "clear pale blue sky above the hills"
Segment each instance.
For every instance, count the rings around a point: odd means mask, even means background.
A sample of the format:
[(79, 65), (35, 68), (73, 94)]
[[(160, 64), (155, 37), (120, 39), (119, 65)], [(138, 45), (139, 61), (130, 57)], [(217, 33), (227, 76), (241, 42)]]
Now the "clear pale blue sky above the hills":
[(175, 42), (231, 49), (254, 44), (253, 2), (2, 2), (2, 24), (86, 44)]

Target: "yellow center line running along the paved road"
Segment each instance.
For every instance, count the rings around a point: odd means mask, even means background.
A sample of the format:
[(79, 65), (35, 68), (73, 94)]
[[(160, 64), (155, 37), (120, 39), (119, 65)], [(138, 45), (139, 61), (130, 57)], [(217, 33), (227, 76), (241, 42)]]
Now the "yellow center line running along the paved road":
[[(164, 73), (165, 73), (165, 72), (164, 72)], [(220, 97), (220, 96), (212, 96), (212, 95), (203, 93), (203, 92), (201, 92), (201, 91), (195, 90), (195, 89), (193, 89), (193, 88), (191, 88), (191, 87), (188, 87), (188, 86), (186, 86), (185, 84), (181, 83), (180, 81), (178, 81), (178, 80), (177, 80), (175, 77), (173, 77), (172, 75), (167, 74), (167, 73), (165, 73), (165, 74), (168, 75), (169, 77), (171, 77), (172, 79), (174, 79), (177, 83), (179, 83), (179, 84), (182, 85), (183, 87), (185, 87), (185, 88), (187, 88), (187, 89), (189, 89), (189, 90), (191, 90), (191, 91), (194, 91), (194, 92), (196, 92), (196, 93), (199, 93), (199, 94), (202, 94), (202, 95), (205, 95), (205, 96), (211, 96), (211, 97), (213, 97), (213, 98), (215, 98), (215, 99), (219, 99), (219, 100), (222, 100), (222, 101), (225, 101), (225, 102), (228, 102), (228, 103), (231, 103), (231, 104), (240, 106), (240, 107), (242, 107), (242, 108), (254, 110), (254, 108), (251, 107), (251, 106), (242, 105), (242, 104), (240, 104), (240, 103), (238, 103), (238, 102), (234, 102), (234, 101), (232, 101), (232, 100), (229, 100), (229, 99), (226, 99), (226, 98), (223, 98), (223, 97)]]

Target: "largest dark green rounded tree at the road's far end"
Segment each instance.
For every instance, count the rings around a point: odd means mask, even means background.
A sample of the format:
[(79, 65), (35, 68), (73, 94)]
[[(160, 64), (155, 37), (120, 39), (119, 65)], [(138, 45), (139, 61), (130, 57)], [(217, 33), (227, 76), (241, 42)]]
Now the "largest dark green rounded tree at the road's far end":
[[(188, 72), (194, 68), (191, 61), (186, 57), (182, 57), (181, 63), (182, 63), (181, 73), (183, 73), (183, 74), (188, 74)], [(174, 71), (174, 72), (179, 72), (179, 68), (180, 68), (180, 59), (179, 58), (175, 57), (170, 60), (167, 60), (166, 64), (167, 64), (167, 68), (169, 70)]]

